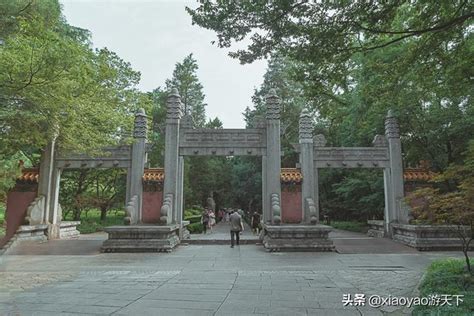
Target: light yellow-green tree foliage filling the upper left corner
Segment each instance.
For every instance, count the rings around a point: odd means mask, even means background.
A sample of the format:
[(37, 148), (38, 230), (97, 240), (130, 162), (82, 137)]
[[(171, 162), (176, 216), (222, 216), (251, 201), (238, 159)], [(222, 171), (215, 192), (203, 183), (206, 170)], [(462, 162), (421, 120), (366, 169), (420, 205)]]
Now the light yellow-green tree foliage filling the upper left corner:
[(57, 0), (5, 2), (0, 152), (38, 151), (55, 137), (61, 150), (93, 151), (128, 136), (131, 113), (149, 104), (135, 89), (140, 74), (115, 53), (93, 50)]

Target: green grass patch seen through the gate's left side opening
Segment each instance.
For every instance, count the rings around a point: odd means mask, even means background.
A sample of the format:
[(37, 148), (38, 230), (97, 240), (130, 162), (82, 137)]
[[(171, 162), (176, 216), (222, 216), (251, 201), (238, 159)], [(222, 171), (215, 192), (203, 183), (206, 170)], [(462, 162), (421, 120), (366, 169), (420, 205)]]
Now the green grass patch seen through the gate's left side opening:
[[(113, 210), (107, 213), (107, 218), (104, 221), (101, 221), (99, 210), (90, 210), (87, 213), (82, 212), (81, 224), (77, 226), (77, 230), (79, 230), (81, 234), (101, 232), (104, 231), (104, 227), (107, 226), (123, 225), (124, 217), (125, 211)], [(72, 213), (68, 214), (63, 220), (72, 221)]]

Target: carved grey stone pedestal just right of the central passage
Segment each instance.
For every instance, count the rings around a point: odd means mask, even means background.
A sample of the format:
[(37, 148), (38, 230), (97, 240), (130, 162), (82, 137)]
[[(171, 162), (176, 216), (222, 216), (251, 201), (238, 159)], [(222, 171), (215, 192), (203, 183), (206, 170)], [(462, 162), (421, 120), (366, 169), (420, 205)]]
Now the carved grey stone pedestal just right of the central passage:
[(333, 251), (325, 225), (263, 225), (262, 244), (268, 251)]

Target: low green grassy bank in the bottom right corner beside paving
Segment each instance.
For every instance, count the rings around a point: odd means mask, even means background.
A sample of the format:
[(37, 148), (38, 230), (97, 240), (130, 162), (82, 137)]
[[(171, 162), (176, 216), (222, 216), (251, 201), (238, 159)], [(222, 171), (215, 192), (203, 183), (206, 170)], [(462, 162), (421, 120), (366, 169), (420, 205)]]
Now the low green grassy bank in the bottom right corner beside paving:
[(421, 297), (463, 295), (459, 306), (456, 306), (455, 300), (451, 302), (452, 306), (416, 306), (413, 315), (474, 315), (474, 276), (467, 272), (465, 266), (464, 259), (436, 260), (428, 267), (419, 288)]

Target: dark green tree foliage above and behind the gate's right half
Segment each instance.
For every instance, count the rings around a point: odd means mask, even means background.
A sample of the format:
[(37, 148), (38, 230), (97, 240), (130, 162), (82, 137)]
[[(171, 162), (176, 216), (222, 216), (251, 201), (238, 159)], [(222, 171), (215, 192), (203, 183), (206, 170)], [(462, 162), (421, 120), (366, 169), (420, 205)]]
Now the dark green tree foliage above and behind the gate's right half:
[[(264, 113), (264, 95), (283, 99), (283, 166), (297, 155), (298, 114), (309, 107), (315, 133), (332, 146), (370, 146), (388, 109), (399, 117), (404, 160), (436, 171), (461, 163), (474, 135), (472, 3), (202, 1), (193, 22), (218, 46), (250, 39), (231, 53), (243, 63), (271, 57), (247, 125)], [(448, 181), (449, 182), (449, 181)], [(383, 216), (380, 174), (328, 171), (321, 208), (334, 218)], [(458, 199), (462, 203), (462, 199)]]

